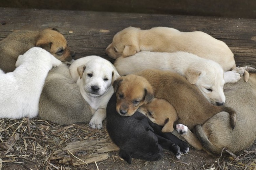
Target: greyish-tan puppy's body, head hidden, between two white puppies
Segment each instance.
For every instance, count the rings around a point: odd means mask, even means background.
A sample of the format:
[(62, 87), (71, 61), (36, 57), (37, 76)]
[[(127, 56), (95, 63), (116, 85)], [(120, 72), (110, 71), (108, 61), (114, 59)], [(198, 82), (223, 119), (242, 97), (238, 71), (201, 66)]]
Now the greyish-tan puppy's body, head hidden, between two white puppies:
[(90, 105), (73, 81), (68, 65), (62, 63), (49, 71), (39, 100), (38, 116), (57, 124), (89, 122)]

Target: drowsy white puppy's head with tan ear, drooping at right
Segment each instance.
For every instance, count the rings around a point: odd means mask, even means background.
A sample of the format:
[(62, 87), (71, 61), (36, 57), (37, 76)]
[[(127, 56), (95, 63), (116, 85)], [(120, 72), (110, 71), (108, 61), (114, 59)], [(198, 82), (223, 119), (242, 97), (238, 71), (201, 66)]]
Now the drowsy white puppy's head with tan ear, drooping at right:
[(210, 62), (203, 63), (202, 68), (189, 68), (185, 76), (191, 84), (198, 87), (210, 103), (223, 105), (226, 99), (223, 91), (224, 71), (218, 63)]

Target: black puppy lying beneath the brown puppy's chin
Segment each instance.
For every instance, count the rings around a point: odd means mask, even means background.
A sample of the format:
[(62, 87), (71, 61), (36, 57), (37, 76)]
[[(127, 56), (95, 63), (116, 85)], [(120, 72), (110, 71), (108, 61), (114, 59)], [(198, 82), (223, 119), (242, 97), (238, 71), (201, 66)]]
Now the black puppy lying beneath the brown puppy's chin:
[[(181, 157), (179, 145), (166, 137), (174, 137), (176, 142), (181, 143), (182, 151), (188, 150), (188, 145), (171, 133), (164, 137), (160, 136), (161, 133), (156, 134), (153, 128), (158, 131), (161, 127), (152, 123), (142, 113), (136, 111), (132, 116), (121, 116), (116, 111), (116, 103), (116, 94), (113, 94), (107, 106), (107, 130), (112, 141), (120, 148), (119, 156), (129, 164), (132, 158), (141, 158), (146, 161), (161, 159), (162, 147), (171, 150), (179, 159)], [(152, 123), (152, 126), (149, 123)]]

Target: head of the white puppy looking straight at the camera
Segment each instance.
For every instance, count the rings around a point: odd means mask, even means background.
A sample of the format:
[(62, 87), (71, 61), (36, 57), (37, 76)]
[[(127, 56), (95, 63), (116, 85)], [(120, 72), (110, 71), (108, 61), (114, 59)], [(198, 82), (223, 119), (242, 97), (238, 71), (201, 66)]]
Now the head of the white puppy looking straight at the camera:
[(91, 96), (103, 95), (113, 88), (112, 84), (120, 77), (111, 62), (98, 57), (77, 67), (77, 72), (85, 92)]

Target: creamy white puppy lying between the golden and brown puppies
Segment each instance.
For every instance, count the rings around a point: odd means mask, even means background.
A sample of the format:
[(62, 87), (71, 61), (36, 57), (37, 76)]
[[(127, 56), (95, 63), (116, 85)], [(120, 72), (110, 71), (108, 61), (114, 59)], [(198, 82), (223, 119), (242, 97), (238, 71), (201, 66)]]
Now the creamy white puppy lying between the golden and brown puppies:
[[(141, 51), (130, 57), (119, 57), (114, 63), (120, 75), (133, 74), (145, 69), (170, 70), (185, 76), (195, 84), (205, 98), (214, 105), (223, 105), (224, 71), (220, 64), (187, 52), (160, 53)], [(233, 72), (227, 77), (237, 82), (240, 74)]]

